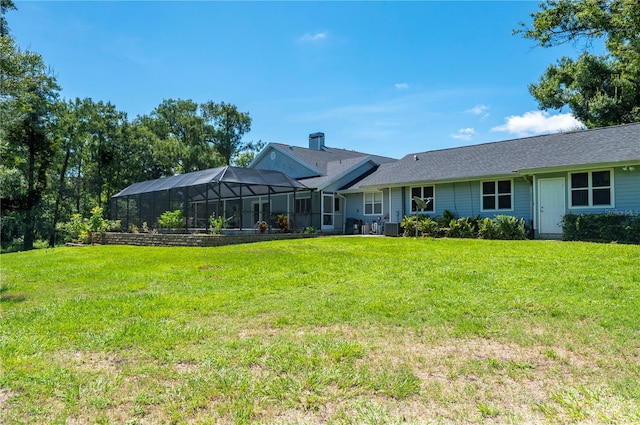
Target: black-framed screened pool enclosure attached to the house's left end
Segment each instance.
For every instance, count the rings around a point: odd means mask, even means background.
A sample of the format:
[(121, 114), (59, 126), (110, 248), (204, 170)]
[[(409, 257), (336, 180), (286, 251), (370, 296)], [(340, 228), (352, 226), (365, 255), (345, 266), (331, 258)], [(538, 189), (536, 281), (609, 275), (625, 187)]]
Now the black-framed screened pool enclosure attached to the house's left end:
[(111, 198), (111, 218), (125, 229), (157, 228), (160, 215), (181, 210), (185, 229), (208, 229), (212, 214), (225, 217), (228, 228), (251, 229), (262, 221), (275, 228), (285, 214), (290, 228), (305, 228), (312, 225), (311, 195), (281, 172), (225, 166), (132, 184)]

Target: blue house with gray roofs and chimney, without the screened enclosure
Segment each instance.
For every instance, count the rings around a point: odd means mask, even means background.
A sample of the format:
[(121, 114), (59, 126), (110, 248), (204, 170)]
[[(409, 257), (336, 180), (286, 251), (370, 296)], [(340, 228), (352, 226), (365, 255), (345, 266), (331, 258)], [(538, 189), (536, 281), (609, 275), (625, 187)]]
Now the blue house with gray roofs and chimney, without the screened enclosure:
[[(283, 171), (312, 189), (326, 230), (348, 218), (399, 223), (405, 215), (448, 210), (460, 217), (513, 215), (536, 237), (558, 238), (567, 213), (640, 212), (640, 123), (400, 160), (327, 147), (322, 133), (309, 140), (309, 148), (270, 144), (250, 166)], [(427, 200), (426, 208), (415, 198)]]

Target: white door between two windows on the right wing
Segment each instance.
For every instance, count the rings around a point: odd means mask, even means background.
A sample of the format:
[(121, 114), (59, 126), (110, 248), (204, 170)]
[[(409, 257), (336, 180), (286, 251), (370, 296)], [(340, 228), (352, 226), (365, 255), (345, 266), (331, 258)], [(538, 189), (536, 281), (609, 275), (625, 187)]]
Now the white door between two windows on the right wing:
[(567, 213), (564, 184), (563, 177), (538, 180), (540, 234), (562, 233), (562, 217)]

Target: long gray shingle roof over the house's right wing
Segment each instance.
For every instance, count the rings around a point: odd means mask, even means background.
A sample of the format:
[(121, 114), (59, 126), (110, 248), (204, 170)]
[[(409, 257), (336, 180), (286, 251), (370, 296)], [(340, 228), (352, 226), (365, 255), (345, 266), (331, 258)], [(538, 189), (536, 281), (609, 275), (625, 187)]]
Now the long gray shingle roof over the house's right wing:
[(409, 154), (350, 189), (625, 161), (640, 162), (640, 123)]

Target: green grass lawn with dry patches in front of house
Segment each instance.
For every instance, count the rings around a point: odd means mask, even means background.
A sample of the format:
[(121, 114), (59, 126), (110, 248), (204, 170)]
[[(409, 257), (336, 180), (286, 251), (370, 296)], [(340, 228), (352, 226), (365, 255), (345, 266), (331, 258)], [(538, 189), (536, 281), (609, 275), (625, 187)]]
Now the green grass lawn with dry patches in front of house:
[(0, 267), (7, 424), (640, 422), (639, 246), (332, 237)]

